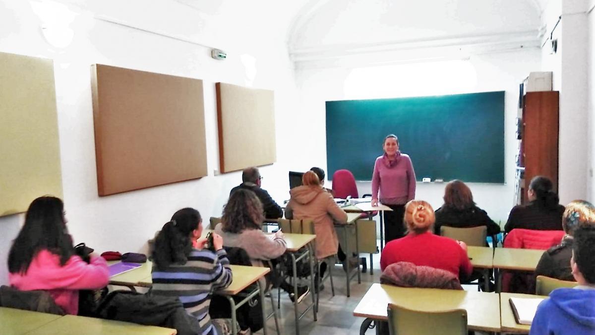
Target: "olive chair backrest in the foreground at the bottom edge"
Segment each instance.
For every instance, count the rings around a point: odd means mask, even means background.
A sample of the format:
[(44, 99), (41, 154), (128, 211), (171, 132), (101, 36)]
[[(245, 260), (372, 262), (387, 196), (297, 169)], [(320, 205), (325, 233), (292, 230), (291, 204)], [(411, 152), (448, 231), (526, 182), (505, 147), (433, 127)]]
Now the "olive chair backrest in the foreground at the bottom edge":
[(389, 303), (388, 315), (390, 335), (467, 335), (465, 309), (421, 312)]

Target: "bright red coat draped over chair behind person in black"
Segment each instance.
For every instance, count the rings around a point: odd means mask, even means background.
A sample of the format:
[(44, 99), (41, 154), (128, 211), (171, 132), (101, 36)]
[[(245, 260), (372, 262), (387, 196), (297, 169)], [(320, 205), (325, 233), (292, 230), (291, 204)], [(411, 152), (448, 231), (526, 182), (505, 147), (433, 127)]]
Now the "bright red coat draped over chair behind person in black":
[(559, 244), (564, 237), (562, 230), (533, 230), (533, 229), (512, 229), (502, 244), (505, 248), (539, 249), (547, 250)]

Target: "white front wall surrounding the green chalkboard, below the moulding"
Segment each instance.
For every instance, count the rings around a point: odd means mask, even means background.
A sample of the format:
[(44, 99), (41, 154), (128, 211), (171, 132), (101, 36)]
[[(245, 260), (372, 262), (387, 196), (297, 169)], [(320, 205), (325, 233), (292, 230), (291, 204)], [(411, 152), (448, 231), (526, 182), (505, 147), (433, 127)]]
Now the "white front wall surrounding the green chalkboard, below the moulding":
[[(374, 58), (374, 55), (369, 57)], [(302, 169), (309, 168), (317, 162), (326, 162), (325, 101), (506, 91), (506, 184), (469, 185), (478, 206), (486, 209), (494, 220), (506, 221), (513, 203), (518, 85), (528, 72), (538, 69), (538, 48), (492, 55), (472, 55), (469, 60), (300, 69), (296, 72), (296, 77), (301, 92), (302, 111), (292, 122), (296, 128), (309, 125), (312, 135), (303, 138), (299, 144), (311, 150), (300, 153), (296, 147), (295, 159), (302, 162)], [(403, 144), (404, 147), (405, 145)], [(380, 155), (380, 143), (377, 149)], [(374, 162), (369, 164), (372, 169)], [(359, 182), (358, 189), (360, 194), (371, 193), (369, 182)], [(442, 204), (443, 191), (444, 184), (418, 183), (416, 197), (430, 201), (432, 206), (437, 208)]]

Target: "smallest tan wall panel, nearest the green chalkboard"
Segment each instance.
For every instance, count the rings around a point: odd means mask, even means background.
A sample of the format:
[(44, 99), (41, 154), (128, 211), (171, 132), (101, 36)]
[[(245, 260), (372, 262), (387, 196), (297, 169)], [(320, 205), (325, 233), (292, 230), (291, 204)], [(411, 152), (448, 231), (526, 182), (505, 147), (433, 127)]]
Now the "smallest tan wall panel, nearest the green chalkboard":
[(222, 173), (273, 164), (274, 92), (216, 83), (219, 163)]

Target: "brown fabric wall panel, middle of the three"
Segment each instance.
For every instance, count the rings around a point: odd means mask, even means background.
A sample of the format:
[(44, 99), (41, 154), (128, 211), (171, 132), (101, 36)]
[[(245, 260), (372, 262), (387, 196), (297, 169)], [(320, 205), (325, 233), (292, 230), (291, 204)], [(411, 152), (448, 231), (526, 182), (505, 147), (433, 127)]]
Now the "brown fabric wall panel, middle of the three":
[(92, 66), (99, 196), (207, 175), (202, 80)]

